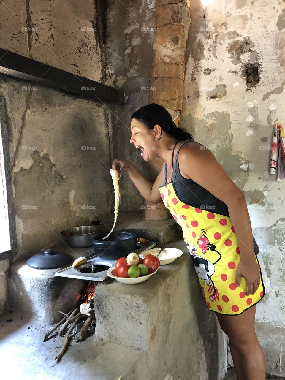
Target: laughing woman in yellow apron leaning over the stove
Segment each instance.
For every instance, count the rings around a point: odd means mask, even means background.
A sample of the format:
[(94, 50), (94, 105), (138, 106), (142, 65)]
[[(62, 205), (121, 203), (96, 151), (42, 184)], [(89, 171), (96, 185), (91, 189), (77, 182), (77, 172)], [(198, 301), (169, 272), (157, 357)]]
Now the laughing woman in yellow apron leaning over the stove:
[(265, 292), (244, 194), (162, 106), (134, 112), (130, 128), (130, 142), (144, 161), (158, 157), (162, 169), (153, 184), (130, 161), (114, 160), (112, 168), (126, 171), (147, 201), (163, 199), (182, 227), (206, 305), (229, 337), (238, 380), (265, 379), (255, 333), (255, 305)]

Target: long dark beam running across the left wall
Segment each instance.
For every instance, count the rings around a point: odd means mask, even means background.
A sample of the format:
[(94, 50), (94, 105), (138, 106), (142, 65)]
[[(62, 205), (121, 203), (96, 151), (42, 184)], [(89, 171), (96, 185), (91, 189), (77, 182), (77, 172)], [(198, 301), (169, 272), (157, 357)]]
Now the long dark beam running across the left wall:
[(41, 86), (52, 87), (101, 101), (127, 102), (125, 91), (68, 73), (23, 55), (0, 48), (0, 73)]

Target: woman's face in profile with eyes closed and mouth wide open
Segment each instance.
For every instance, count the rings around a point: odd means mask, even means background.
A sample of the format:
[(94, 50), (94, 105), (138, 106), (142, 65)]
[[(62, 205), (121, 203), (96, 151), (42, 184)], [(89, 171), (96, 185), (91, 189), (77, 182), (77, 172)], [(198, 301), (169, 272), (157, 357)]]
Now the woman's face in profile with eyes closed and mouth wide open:
[(154, 130), (148, 130), (135, 118), (131, 120), (130, 128), (132, 133), (130, 139), (131, 144), (134, 144), (139, 150), (144, 161), (153, 160), (155, 158), (154, 151), (156, 149), (154, 140), (157, 134), (156, 128), (154, 128)]

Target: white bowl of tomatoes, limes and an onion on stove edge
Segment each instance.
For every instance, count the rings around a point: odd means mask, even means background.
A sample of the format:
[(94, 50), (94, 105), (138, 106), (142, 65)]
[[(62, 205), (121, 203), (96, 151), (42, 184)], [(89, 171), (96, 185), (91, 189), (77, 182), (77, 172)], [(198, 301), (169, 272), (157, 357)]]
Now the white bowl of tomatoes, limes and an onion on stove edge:
[(155, 274), (159, 265), (160, 261), (154, 255), (139, 259), (135, 252), (131, 252), (127, 257), (119, 258), (115, 266), (108, 269), (107, 275), (125, 284), (135, 284), (146, 281)]

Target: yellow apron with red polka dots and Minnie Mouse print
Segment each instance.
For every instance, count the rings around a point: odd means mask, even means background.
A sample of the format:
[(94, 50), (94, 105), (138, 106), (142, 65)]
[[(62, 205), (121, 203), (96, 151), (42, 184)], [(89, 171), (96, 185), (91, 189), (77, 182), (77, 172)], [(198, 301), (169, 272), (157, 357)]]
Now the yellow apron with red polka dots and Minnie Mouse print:
[[(265, 294), (262, 276), (255, 294), (246, 295), (244, 277), (241, 285), (236, 285), (240, 252), (230, 217), (183, 203), (172, 180), (160, 186), (159, 190), (163, 203), (182, 228), (209, 310), (237, 315), (259, 302)], [(258, 263), (257, 257), (255, 259)]]

